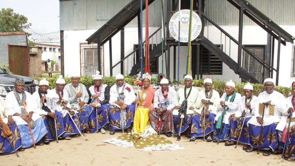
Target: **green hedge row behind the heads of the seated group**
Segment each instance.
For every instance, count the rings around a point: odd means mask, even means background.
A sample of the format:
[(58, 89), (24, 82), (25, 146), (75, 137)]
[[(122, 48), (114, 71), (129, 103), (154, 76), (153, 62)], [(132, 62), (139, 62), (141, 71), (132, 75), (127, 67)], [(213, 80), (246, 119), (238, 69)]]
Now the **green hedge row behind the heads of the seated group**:
[[(42, 80), (44, 77), (35, 77), (35, 80)], [(57, 80), (57, 77), (52, 77), (52, 78), (46, 78), (47, 81), (49, 82), (49, 88), (53, 89), (55, 87), (55, 81)], [(64, 78), (66, 80), (66, 84), (71, 82), (70, 78)], [(134, 77), (125, 77), (124, 80), (126, 83), (130, 84), (130, 85), (134, 85), (133, 81), (134, 81)], [(88, 89), (90, 86), (93, 85), (93, 79), (92, 77), (89, 76), (81, 76), (80, 77), (80, 83), (84, 84), (86, 86), (86, 88)], [(115, 81), (115, 77), (110, 76), (110, 77), (103, 77), (102, 78), (102, 83), (103, 84), (107, 84), (110, 87), (113, 86), (116, 81)], [(157, 83), (157, 79), (152, 78), (151, 79), (151, 84), (156, 84)], [(176, 80), (172, 81), (173, 84), (177, 84)], [(193, 86), (197, 86), (197, 87), (204, 87), (203, 85), (204, 83), (204, 79), (200, 79), (200, 80), (193, 80)], [(180, 84), (184, 85), (184, 80), (180, 80)], [(213, 80), (213, 88), (214, 90), (216, 90), (220, 96), (222, 96), (222, 93), (224, 93), (225, 91), (225, 82), (220, 81), (219, 79), (217, 80)], [(263, 84), (258, 84), (258, 83), (254, 83), (253, 85), (253, 94), (255, 96), (258, 96), (259, 93), (264, 91), (264, 86)], [(243, 94), (243, 89), (244, 89), (245, 83), (241, 83), (235, 84), (235, 91), (240, 93), (242, 96)], [(290, 96), (290, 92), (291, 89), (289, 87), (282, 87), (282, 86), (275, 86), (274, 90), (282, 93), (285, 97)]]

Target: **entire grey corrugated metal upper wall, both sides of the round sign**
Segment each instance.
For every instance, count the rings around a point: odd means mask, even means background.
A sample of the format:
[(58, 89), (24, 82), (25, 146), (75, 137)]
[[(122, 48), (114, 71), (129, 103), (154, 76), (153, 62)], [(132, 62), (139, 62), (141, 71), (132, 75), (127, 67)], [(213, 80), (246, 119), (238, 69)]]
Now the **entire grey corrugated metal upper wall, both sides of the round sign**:
[[(295, 25), (294, 0), (248, 0), (278, 25)], [(60, 1), (60, 30), (99, 29), (131, 0)], [(161, 0), (149, 6), (150, 27), (161, 26)], [(145, 11), (143, 12), (145, 26)], [(218, 25), (238, 25), (238, 9), (226, 0), (205, 0), (205, 14)], [(244, 15), (245, 16), (245, 15)], [(166, 17), (166, 0), (164, 0)], [(247, 16), (244, 25), (256, 25)], [(137, 27), (135, 18), (127, 26)]]

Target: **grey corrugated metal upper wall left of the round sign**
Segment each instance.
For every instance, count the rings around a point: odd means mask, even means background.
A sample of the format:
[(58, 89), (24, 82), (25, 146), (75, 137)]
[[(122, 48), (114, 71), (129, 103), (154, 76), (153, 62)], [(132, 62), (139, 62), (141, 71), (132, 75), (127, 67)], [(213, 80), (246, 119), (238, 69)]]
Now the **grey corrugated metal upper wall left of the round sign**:
[[(130, 2), (131, 0), (60, 1), (60, 30), (99, 29)], [(145, 10), (143, 13), (143, 26), (145, 26)], [(164, 13), (166, 17), (166, 8)], [(161, 26), (161, 15), (161, 1), (156, 0), (149, 5), (149, 26)], [(137, 27), (137, 19), (126, 27)]]

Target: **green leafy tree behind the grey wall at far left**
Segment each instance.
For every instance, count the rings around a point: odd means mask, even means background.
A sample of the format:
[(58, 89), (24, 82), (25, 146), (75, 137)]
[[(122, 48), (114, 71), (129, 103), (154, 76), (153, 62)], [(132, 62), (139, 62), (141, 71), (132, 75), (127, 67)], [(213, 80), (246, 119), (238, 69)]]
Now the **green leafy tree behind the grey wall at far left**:
[(14, 13), (11, 8), (2, 8), (0, 11), (0, 32), (22, 32), (31, 25), (27, 17)]

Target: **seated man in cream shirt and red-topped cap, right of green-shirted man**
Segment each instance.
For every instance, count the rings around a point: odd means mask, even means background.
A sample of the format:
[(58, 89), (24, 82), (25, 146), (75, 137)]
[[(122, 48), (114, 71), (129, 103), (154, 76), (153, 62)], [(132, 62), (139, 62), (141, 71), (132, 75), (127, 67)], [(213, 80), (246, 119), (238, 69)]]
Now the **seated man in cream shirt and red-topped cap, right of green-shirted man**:
[(204, 128), (205, 136), (208, 135), (207, 141), (211, 142), (213, 138), (214, 118), (219, 111), (220, 97), (219, 93), (212, 89), (212, 80), (209, 76), (204, 80), (204, 88), (196, 100), (195, 107), (197, 109), (192, 117), (190, 141), (195, 141), (197, 137), (204, 137)]

